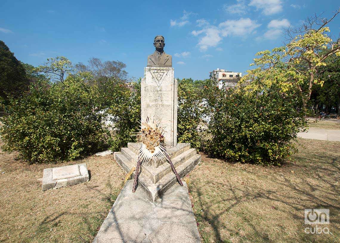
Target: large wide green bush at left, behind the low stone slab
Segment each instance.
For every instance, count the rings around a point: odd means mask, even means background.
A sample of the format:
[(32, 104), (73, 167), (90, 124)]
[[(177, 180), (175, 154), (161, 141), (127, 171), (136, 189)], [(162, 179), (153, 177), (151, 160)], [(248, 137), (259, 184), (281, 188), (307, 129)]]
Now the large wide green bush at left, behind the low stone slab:
[(30, 163), (73, 160), (103, 149), (107, 129), (98, 113), (98, 92), (80, 76), (63, 83), (40, 81), (6, 107), (0, 130), (6, 151)]

